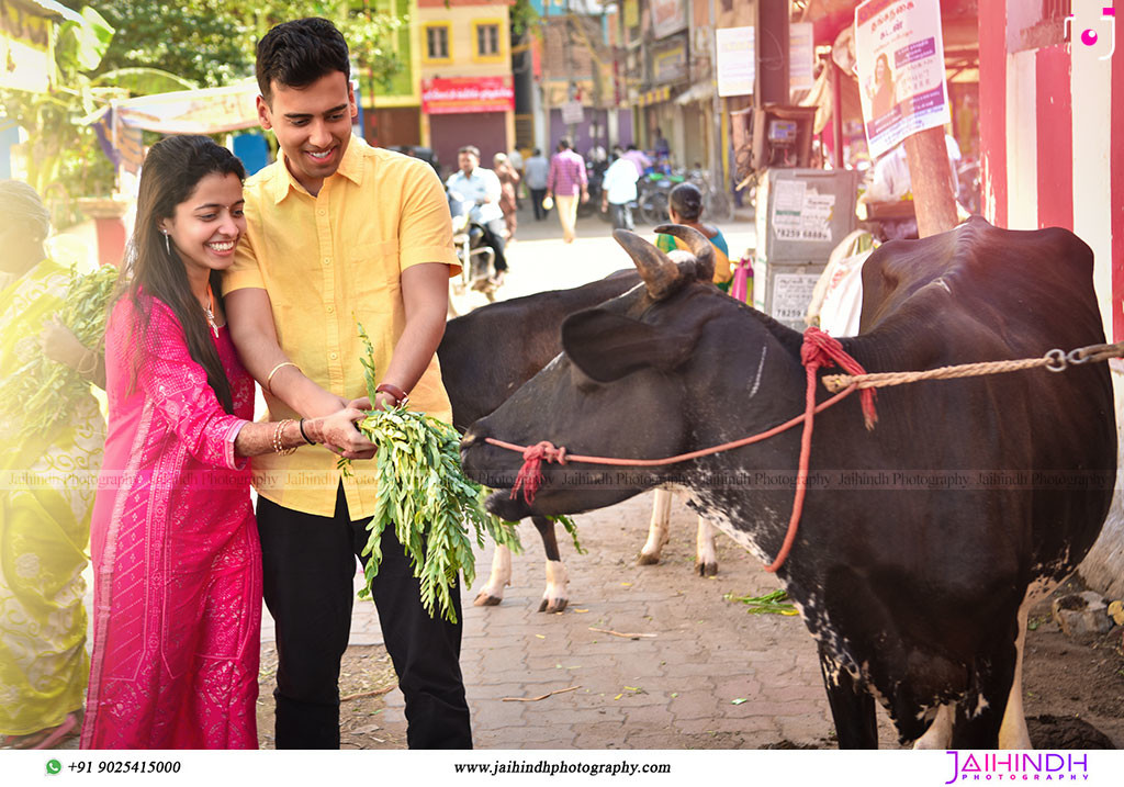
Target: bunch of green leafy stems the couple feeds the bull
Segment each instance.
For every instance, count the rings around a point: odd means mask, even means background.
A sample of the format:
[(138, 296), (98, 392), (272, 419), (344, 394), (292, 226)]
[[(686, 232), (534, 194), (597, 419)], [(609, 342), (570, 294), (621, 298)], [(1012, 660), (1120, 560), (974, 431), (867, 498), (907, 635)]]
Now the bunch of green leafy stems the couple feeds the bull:
[[(363, 326), (359, 335), (366, 347), (362, 358), (368, 396), (374, 400), (375, 376), (373, 351)], [(379, 491), (374, 516), (368, 524), (370, 536), (363, 554), (366, 561), (366, 589), (379, 573), (382, 561), (380, 540), (387, 527), (395, 528), (398, 542), (406, 550), (420, 580), (422, 603), (426, 610), (456, 622), (453, 610), (459, 573), (472, 585), (475, 579), (475, 555), (469, 537), (472, 526), (477, 545), (483, 548), (484, 536), (519, 551), (515, 525), (502, 522), (484, 510), (488, 490), (466, 479), (461, 470), (460, 435), (436, 418), (414, 413), (405, 407), (374, 410), (359, 423), (360, 431), (378, 446)], [(346, 467), (346, 460), (342, 464)]]

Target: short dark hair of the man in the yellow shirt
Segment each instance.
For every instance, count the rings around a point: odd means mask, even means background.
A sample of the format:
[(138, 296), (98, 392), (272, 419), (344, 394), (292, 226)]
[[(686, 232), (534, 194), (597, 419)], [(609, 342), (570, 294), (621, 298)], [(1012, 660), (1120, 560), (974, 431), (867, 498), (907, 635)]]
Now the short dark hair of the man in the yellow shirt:
[(351, 79), (347, 42), (327, 19), (309, 17), (282, 22), (257, 42), (254, 70), (257, 89), (269, 103), (274, 82), (306, 88), (333, 71), (342, 71), (345, 79)]

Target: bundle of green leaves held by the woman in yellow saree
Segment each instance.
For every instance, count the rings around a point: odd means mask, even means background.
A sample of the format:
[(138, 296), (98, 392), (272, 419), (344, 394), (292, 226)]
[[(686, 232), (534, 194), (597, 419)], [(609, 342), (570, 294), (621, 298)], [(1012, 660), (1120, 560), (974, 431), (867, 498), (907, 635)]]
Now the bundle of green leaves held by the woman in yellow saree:
[[(87, 275), (71, 272), (60, 317), (83, 345), (102, 353), (106, 309), (114, 293), (117, 269), (102, 265)], [(52, 361), (38, 344), (15, 374), (0, 383), (0, 406), (20, 424), (20, 436), (46, 434), (70, 417), (74, 404), (90, 392), (90, 383), (70, 367)]]

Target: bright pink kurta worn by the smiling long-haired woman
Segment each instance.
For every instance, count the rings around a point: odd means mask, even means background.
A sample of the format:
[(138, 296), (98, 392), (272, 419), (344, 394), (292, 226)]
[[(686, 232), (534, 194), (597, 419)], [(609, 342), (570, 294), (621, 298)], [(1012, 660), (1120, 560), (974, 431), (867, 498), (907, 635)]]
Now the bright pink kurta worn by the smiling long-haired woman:
[(215, 343), (235, 415), (164, 304), (143, 336), (128, 296), (109, 320), (83, 749), (257, 748), (261, 546), (250, 470), (234, 455), (254, 388), (226, 328)]

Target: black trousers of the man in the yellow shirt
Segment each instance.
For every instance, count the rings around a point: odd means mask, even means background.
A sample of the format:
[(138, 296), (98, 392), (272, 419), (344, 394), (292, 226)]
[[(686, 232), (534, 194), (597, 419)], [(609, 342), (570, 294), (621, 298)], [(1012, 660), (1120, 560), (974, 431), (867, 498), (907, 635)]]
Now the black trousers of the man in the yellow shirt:
[[(342, 486), (333, 517), (259, 498), (265, 606), (277, 623), (278, 749), (339, 748), (339, 660), (351, 631), (355, 557), (366, 545), (369, 521), (351, 521)], [(372, 595), (406, 696), (407, 744), (471, 749), (461, 626), (439, 615), (429, 617), (413, 575), (388, 527)], [(457, 621), (463, 621), (459, 592), (453, 592), (453, 603)]]

